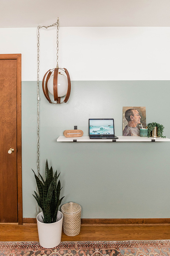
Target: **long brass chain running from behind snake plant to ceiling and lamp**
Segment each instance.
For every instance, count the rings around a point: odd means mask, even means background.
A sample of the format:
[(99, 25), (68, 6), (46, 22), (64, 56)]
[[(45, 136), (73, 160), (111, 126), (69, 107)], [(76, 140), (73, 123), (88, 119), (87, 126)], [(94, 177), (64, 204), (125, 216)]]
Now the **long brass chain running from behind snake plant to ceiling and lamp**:
[[(40, 178), (40, 143), (39, 143), (39, 65), (40, 65), (40, 59), (39, 59), (39, 52), (40, 52), (40, 28), (49, 28), (57, 25), (57, 68), (58, 68), (58, 31), (59, 31), (59, 18), (57, 19), (56, 23), (53, 23), (50, 26), (38, 26), (37, 27), (37, 171), (38, 171), (38, 177)], [(38, 188), (36, 188), (38, 193)], [(38, 209), (37, 209), (38, 208)], [(36, 204), (36, 215), (40, 212), (40, 207), (38, 207), (38, 204)]]

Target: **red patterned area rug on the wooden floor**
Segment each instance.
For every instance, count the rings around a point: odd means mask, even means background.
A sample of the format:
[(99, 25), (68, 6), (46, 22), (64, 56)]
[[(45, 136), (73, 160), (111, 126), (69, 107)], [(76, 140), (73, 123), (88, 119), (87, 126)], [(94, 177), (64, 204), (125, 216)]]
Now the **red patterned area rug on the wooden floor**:
[(168, 256), (170, 240), (61, 242), (45, 249), (39, 242), (0, 242), (0, 256)]

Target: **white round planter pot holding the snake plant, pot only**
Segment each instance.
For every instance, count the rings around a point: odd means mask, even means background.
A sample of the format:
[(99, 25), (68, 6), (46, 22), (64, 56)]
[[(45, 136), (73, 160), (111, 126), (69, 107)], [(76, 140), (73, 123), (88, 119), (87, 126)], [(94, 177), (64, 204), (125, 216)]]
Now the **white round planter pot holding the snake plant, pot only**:
[(56, 247), (61, 242), (63, 214), (58, 211), (55, 223), (44, 223), (42, 217), (44, 217), (42, 212), (36, 217), (39, 243), (44, 248)]

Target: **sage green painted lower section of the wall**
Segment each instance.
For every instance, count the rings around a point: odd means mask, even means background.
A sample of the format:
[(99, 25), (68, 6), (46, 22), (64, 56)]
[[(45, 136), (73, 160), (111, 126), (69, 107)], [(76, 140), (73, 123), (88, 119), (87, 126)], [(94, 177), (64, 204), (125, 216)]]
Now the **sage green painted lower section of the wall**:
[[(23, 217), (35, 217), (37, 87), (22, 82)], [(114, 118), (122, 135), (122, 107), (146, 106), (147, 123), (170, 138), (169, 81), (72, 81), (66, 104), (50, 104), (40, 86), (40, 170), (61, 171), (63, 203), (77, 202), (82, 218), (169, 218), (170, 143), (57, 142), (74, 125), (88, 135), (89, 118)]]

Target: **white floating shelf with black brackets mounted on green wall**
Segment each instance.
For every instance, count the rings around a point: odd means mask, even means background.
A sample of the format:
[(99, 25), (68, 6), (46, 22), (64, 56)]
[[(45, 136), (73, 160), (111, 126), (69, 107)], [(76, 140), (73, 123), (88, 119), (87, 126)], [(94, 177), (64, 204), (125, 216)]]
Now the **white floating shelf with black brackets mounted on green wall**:
[[(119, 136), (117, 135), (119, 139), (117, 139), (117, 142), (152, 142), (155, 140), (155, 142), (168, 142), (170, 139), (168, 138), (153, 138), (153, 137), (140, 137), (140, 136)], [(57, 139), (57, 142), (112, 142), (112, 139), (90, 139), (89, 136), (82, 136), (82, 137), (72, 137), (72, 138), (66, 138), (65, 136), (60, 136)]]

